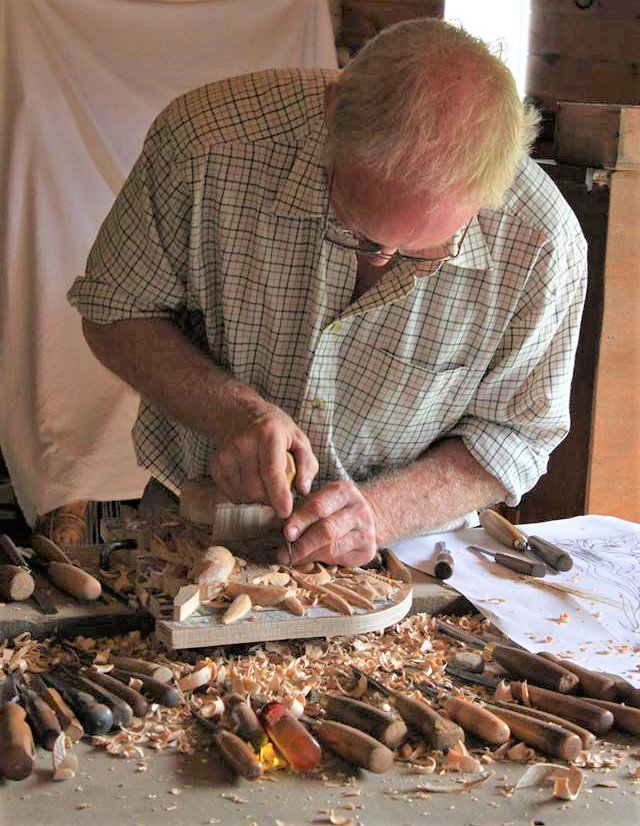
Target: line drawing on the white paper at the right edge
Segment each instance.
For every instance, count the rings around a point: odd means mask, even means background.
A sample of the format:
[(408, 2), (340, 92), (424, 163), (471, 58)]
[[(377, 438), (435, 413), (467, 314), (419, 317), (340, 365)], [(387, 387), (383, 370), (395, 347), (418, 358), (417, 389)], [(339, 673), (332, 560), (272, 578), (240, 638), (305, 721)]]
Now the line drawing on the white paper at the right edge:
[(563, 539), (556, 544), (569, 551), (580, 574), (606, 582), (618, 592), (623, 611), (620, 625), (625, 631), (640, 633), (640, 535)]

